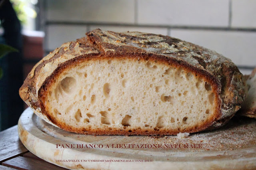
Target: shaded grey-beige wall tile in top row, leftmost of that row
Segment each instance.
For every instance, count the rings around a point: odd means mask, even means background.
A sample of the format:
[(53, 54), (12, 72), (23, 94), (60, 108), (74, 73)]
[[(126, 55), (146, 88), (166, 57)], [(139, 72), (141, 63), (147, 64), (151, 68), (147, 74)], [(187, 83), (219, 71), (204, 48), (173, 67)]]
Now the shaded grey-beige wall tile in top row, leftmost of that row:
[(134, 23), (134, 0), (46, 0), (46, 20)]

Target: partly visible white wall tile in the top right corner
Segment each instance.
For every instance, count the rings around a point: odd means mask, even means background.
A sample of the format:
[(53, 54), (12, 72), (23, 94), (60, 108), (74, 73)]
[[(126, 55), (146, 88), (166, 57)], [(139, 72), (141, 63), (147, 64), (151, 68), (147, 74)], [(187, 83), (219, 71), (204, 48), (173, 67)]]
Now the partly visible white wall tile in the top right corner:
[(256, 0), (232, 0), (231, 26), (256, 28)]

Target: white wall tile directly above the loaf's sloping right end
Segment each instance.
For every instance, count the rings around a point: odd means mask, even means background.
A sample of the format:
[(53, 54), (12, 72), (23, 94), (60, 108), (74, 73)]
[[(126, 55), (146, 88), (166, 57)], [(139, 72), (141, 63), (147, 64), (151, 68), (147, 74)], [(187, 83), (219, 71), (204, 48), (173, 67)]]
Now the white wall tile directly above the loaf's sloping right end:
[(213, 49), (237, 65), (256, 66), (256, 32), (173, 29), (171, 36)]

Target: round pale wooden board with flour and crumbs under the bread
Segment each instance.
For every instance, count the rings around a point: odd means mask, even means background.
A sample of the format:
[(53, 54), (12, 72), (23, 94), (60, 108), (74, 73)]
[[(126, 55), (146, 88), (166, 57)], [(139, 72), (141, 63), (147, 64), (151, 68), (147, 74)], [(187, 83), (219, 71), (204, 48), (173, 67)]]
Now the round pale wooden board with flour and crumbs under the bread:
[[(94, 136), (56, 128), (28, 108), (20, 116), (18, 133), (30, 152), (69, 169), (256, 168), (256, 120), (249, 118), (235, 117), (225, 127), (190, 134), (187, 138)], [(74, 148), (57, 148), (57, 144), (74, 144)], [(77, 148), (77, 144), (83, 144), (84, 147), (90, 147), (91, 144), (93, 148)], [(100, 144), (102, 148), (97, 147)], [(152, 148), (148, 148), (150, 146)]]

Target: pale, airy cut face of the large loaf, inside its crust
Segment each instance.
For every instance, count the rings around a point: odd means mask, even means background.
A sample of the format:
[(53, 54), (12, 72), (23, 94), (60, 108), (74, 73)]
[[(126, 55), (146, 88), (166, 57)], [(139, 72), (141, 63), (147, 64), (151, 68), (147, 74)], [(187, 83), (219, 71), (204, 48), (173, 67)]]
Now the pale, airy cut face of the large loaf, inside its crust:
[(46, 106), (78, 129), (191, 130), (216, 117), (204, 77), (160, 61), (98, 59), (70, 67), (48, 87)]

